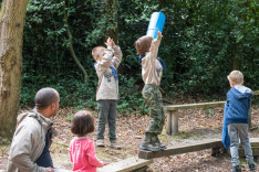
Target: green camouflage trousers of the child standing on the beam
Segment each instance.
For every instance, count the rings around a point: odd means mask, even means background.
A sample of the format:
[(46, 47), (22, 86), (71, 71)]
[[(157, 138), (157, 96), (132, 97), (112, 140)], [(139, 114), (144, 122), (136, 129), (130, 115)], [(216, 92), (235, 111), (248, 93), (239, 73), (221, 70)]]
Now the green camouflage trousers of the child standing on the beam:
[(145, 98), (151, 115), (151, 120), (145, 133), (149, 136), (160, 135), (165, 123), (165, 112), (159, 86), (147, 84), (143, 88), (142, 95)]

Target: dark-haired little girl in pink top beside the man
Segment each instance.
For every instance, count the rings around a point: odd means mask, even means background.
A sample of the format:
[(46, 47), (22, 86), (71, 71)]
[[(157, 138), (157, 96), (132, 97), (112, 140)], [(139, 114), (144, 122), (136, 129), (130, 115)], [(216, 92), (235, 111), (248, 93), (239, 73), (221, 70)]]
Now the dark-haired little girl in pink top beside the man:
[(81, 110), (74, 115), (71, 127), (72, 133), (76, 135), (70, 143), (70, 158), (73, 162), (73, 171), (96, 172), (103, 163), (96, 158), (94, 143), (86, 138), (94, 131), (94, 118), (91, 112)]

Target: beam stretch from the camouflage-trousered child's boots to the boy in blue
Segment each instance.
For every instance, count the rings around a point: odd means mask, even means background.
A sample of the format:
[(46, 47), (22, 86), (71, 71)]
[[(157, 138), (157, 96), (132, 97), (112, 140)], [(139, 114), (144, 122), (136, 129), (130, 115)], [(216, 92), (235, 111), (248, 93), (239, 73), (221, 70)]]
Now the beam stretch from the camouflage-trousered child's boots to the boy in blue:
[(220, 147), (222, 147), (221, 139), (210, 139), (206, 141), (198, 141), (196, 143), (182, 144), (178, 147), (168, 147), (166, 150), (156, 151), (156, 152), (141, 150), (138, 152), (138, 157), (142, 159), (154, 159), (154, 158), (168, 157), (168, 155), (175, 155), (186, 152), (194, 152), (204, 149), (220, 148)]

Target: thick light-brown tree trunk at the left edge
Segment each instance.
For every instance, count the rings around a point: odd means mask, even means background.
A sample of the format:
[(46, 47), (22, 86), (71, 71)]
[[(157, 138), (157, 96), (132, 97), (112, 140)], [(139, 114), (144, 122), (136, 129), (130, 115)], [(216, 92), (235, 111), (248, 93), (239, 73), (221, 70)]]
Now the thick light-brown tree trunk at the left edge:
[(19, 110), (22, 36), (28, 0), (3, 0), (0, 13), (0, 137), (14, 131)]

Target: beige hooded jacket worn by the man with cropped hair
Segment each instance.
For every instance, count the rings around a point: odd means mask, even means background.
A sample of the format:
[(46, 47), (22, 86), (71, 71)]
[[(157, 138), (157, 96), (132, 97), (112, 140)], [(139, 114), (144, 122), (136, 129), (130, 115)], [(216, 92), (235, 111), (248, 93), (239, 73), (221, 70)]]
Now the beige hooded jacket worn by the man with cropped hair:
[(18, 127), (8, 158), (8, 172), (45, 172), (45, 168), (34, 162), (45, 147), (45, 133), (51, 125), (52, 121), (35, 109), (18, 116)]

